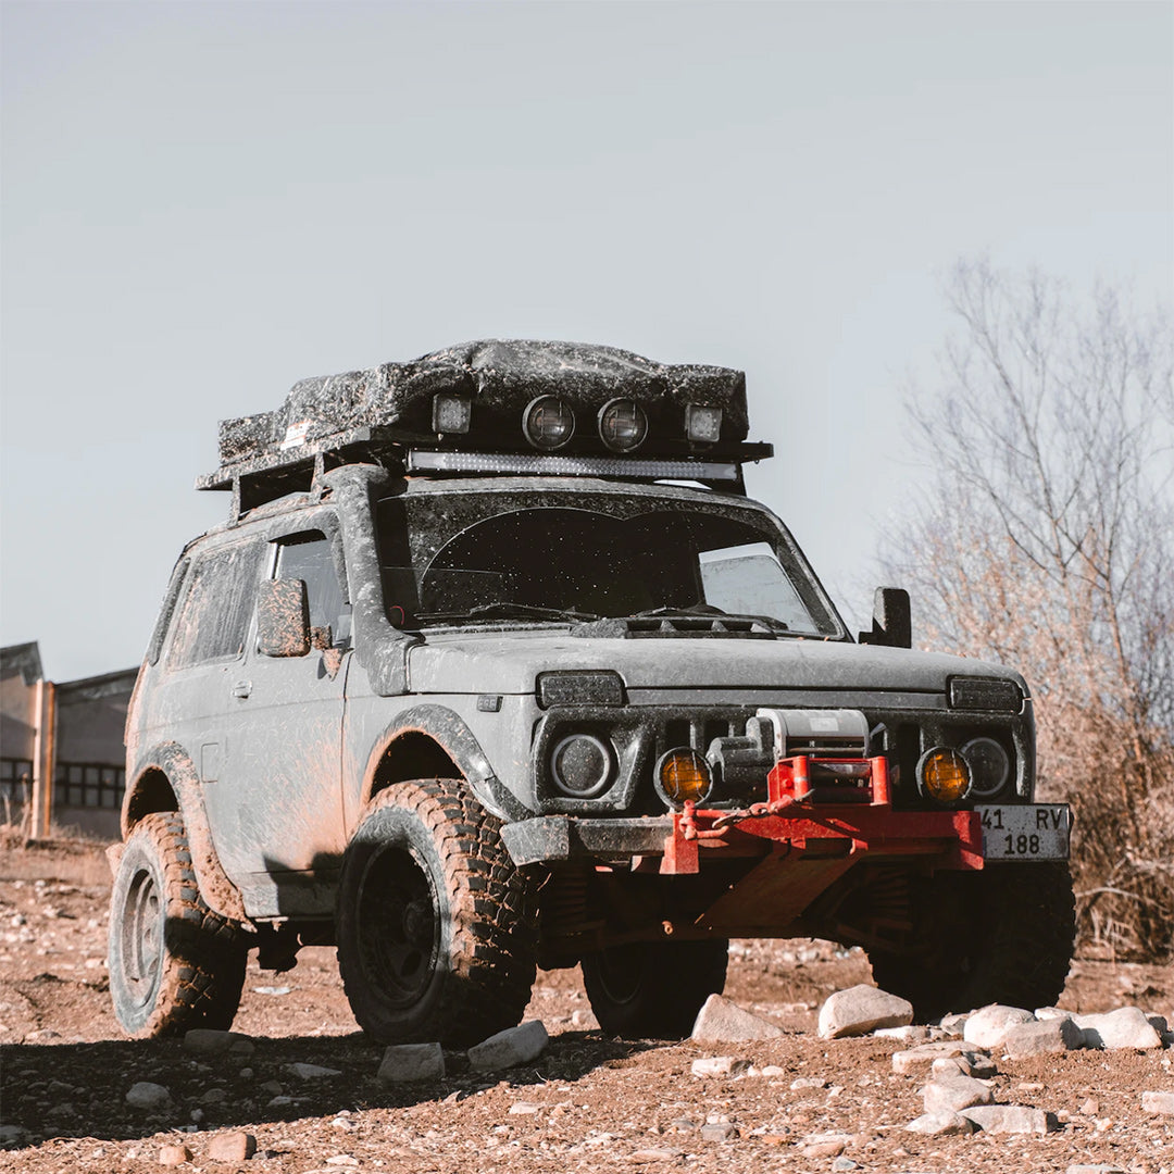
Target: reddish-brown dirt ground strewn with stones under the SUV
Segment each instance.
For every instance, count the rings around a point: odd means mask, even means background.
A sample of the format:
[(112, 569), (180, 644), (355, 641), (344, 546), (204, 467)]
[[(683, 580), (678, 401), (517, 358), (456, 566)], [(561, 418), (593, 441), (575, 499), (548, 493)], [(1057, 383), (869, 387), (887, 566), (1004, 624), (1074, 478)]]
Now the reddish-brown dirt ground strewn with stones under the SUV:
[[(539, 974), (527, 1011), (551, 1033), (532, 1066), (486, 1078), (450, 1053), (444, 1081), (385, 1088), (376, 1080), (380, 1050), (357, 1032), (325, 949), (303, 951), (285, 974), (250, 964), (234, 1030), (252, 1037), (251, 1054), (196, 1058), (181, 1040), (128, 1040), (107, 993), (108, 893), (93, 850), (0, 855), (0, 1121), (20, 1131), (6, 1131), (0, 1169), (140, 1174), (162, 1168), (162, 1147), (185, 1145), (193, 1161), (181, 1170), (256, 1174), (1021, 1174), (1078, 1163), (1174, 1174), (1174, 1116), (1141, 1107), (1145, 1091), (1174, 1092), (1174, 1048), (997, 1058), (996, 1100), (1055, 1113), (1057, 1132), (908, 1133), (923, 1080), (893, 1073), (891, 1053), (904, 1045), (815, 1034), (822, 1000), (869, 980), (865, 957), (809, 940), (733, 944), (727, 996), (785, 1030), (764, 1044), (610, 1039), (595, 1026), (578, 971), (558, 971)], [(1060, 1003), (1135, 1004), (1174, 1023), (1174, 966), (1079, 958)], [(782, 1073), (690, 1074), (695, 1059), (718, 1053)], [(290, 1067), (297, 1062), (338, 1074), (303, 1079)], [(166, 1086), (170, 1106), (128, 1105), (136, 1081)], [(702, 1135), (707, 1122), (733, 1128)], [(214, 1134), (231, 1131), (256, 1138), (257, 1155), (239, 1167), (208, 1156)]]

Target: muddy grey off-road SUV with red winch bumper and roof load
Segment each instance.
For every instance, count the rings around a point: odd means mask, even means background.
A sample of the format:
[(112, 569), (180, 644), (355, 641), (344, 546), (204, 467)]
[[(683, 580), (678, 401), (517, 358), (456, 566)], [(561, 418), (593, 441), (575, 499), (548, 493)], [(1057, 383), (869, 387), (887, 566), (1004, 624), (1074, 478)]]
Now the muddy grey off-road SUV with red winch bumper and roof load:
[(515, 1024), (580, 965), (681, 1035), (731, 937), (863, 946), (923, 1017), (1059, 994), (1068, 810), (1016, 673), (853, 639), (748, 500), (744, 380), (488, 342), (221, 426), (127, 722), (110, 990), (227, 1027), (248, 951), (333, 944), (384, 1041)]

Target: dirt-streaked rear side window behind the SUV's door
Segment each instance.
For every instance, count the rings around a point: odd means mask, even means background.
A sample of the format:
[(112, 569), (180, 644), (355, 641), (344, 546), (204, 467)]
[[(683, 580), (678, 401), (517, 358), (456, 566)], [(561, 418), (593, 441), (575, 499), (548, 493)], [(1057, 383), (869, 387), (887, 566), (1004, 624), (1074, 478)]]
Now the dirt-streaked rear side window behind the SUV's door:
[(168, 664), (188, 668), (244, 652), (244, 634), (257, 592), (261, 546), (231, 546), (201, 559), (175, 622)]

